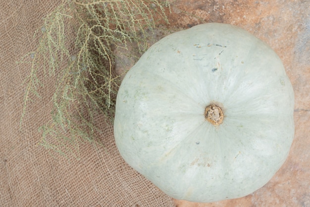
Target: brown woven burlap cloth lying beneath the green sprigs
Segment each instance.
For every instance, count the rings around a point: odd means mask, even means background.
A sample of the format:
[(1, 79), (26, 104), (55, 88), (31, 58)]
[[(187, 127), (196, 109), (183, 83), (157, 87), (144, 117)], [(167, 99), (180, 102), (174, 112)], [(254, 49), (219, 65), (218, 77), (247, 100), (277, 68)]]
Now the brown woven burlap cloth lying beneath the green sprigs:
[[(55, 1), (0, 2), (0, 207), (172, 207), (171, 198), (130, 168), (119, 155), (113, 128), (103, 117), (103, 146), (85, 143), (80, 159), (68, 159), (38, 145), (38, 127), (51, 119), (53, 82), (30, 103), (21, 128), (29, 65), (17, 65), (37, 42), (34, 31)], [(42, 91), (41, 91), (42, 92)]]

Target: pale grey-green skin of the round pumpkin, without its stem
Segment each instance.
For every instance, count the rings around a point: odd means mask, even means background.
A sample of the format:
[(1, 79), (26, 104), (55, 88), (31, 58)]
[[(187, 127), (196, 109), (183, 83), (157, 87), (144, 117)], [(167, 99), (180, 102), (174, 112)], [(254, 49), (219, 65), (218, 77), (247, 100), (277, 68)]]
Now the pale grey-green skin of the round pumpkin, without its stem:
[[(222, 123), (205, 118), (210, 105)], [(125, 75), (114, 136), (124, 160), (167, 195), (244, 197), (284, 163), (294, 93), (280, 58), (229, 24), (207, 23), (155, 43)]]

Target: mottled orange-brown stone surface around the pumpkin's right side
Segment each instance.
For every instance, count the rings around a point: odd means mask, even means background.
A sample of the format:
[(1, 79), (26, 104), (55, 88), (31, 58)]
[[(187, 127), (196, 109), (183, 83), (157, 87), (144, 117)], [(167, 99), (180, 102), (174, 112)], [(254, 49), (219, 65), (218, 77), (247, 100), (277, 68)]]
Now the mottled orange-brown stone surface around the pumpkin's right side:
[(295, 138), (289, 157), (264, 187), (210, 204), (174, 200), (176, 207), (310, 207), (310, 1), (172, 0), (170, 28), (204, 22), (238, 25), (273, 48), (295, 92)]

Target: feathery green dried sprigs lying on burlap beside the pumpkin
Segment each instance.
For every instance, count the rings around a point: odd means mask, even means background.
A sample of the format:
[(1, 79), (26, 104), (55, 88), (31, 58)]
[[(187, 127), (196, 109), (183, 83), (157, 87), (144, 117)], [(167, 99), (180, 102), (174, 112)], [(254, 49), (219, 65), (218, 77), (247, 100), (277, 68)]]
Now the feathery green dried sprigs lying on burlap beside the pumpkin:
[(167, 0), (66, 0), (44, 19), (35, 33), (36, 51), (19, 62), (31, 66), (21, 123), (33, 96), (55, 80), (52, 118), (40, 128), (41, 145), (79, 157), (83, 141), (99, 143), (95, 135), (104, 135), (96, 119), (113, 122), (120, 85), (113, 72), (115, 51), (127, 49), (128, 42), (140, 52), (147, 49), (155, 19), (167, 22), (166, 8)]

